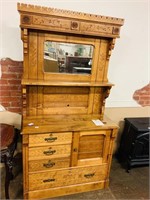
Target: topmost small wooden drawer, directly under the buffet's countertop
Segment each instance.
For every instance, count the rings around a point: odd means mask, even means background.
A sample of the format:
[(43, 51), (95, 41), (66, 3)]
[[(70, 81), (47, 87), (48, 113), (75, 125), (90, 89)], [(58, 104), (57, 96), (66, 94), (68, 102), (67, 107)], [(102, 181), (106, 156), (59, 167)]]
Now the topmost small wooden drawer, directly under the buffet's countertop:
[(72, 142), (72, 132), (44, 133), (29, 135), (29, 147), (68, 144)]

